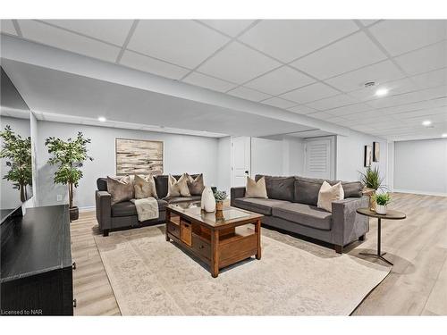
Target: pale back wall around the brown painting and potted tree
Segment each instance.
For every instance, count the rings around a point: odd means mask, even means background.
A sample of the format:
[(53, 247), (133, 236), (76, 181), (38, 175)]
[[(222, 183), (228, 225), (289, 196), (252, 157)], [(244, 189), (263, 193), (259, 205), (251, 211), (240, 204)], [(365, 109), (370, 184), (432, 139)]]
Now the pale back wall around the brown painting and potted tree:
[(63, 195), (67, 202), (67, 188), (53, 183), (55, 168), (46, 164), (49, 155), (45, 147), (45, 138), (69, 138), (82, 131), (91, 138), (89, 155), (93, 162), (86, 162), (75, 192), (75, 205), (90, 207), (95, 205), (95, 190), (98, 177), (115, 174), (115, 138), (155, 139), (164, 141), (164, 173), (203, 172), (205, 183), (217, 184), (217, 148), (216, 138), (202, 138), (187, 135), (157, 133), (142, 130), (122, 130), (51, 121), (38, 121), (38, 205), (60, 204), (57, 195)]

